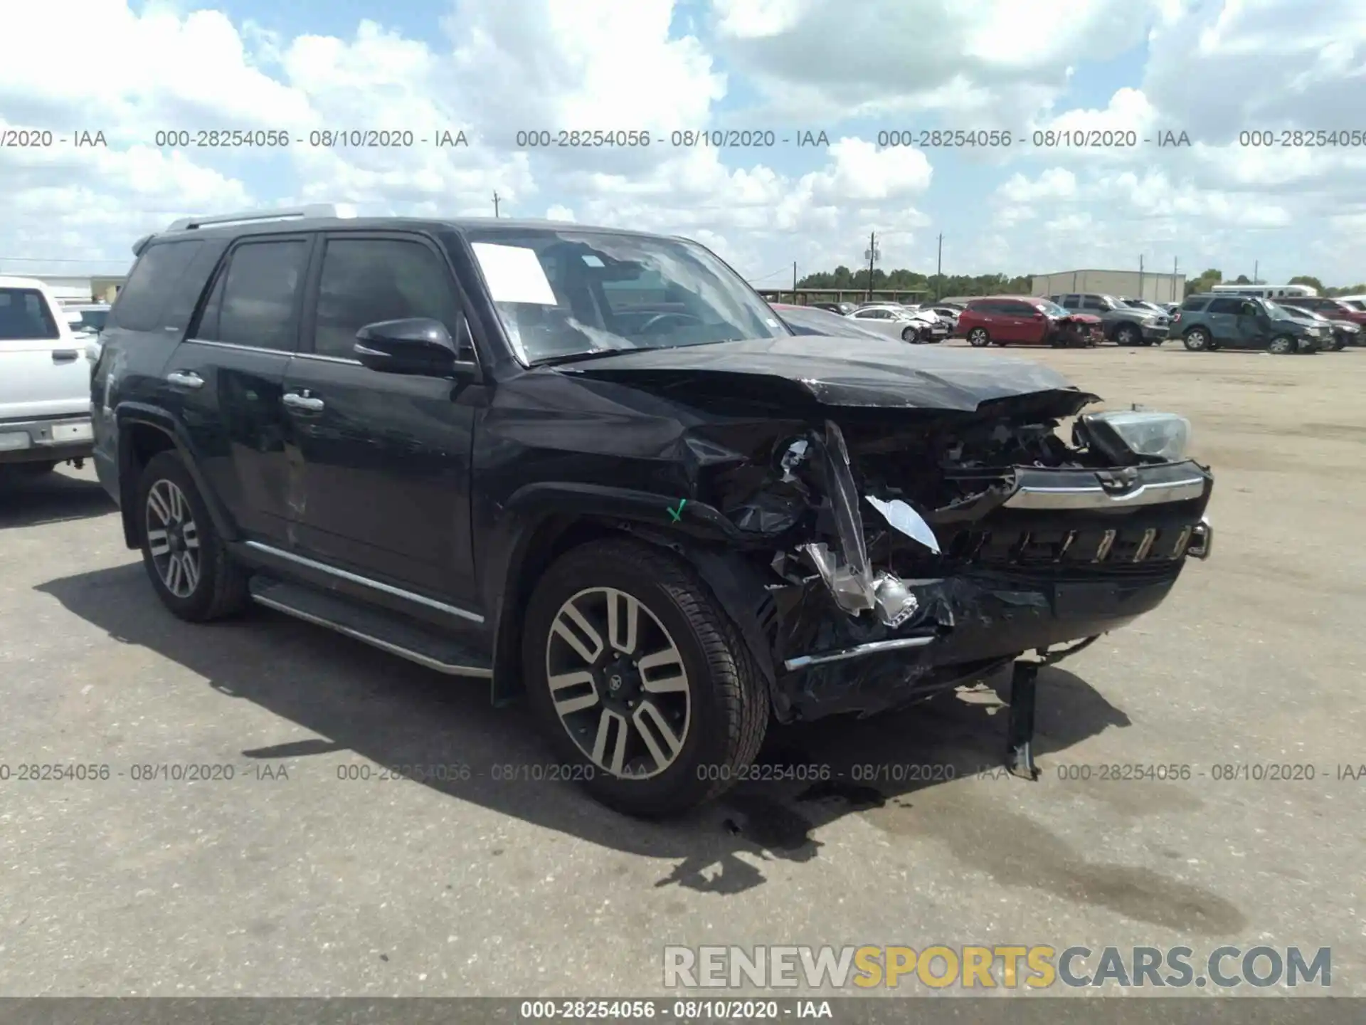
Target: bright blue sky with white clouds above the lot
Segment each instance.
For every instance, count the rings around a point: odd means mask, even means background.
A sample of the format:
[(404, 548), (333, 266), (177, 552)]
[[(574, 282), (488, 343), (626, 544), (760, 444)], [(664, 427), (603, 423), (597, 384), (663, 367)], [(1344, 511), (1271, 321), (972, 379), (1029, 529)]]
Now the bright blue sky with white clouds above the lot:
[[(1137, 268), (1142, 256), (1153, 271), (1175, 258), (1232, 277), (1257, 261), (1265, 280), (1366, 279), (1361, 0), (5, 8), (0, 272), (120, 272), (138, 235), (184, 213), (336, 201), (492, 215), (496, 191), (504, 216), (698, 238), (759, 287), (788, 283), (794, 261), (856, 265), (873, 230), (884, 266), (925, 272), (943, 232), (949, 273)], [(413, 145), (309, 145), (366, 128)], [(157, 145), (158, 131), (201, 130), (290, 145)], [(518, 146), (540, 130), (652, 144)], [(699, 130), (751, 145), (673, 145)], [(78, 148), (81, 131), (108, 145)], [(469, 145), (437, 146), (440, 131)], [(822, 131), (828, 145), (798, 145)], [(933, 131), (1011, 145), (878, 145)], [(1065, 131), (1137, 145), (1061, 145)], [(1300, 145), (1283, 139), (1296, 131)], [(1168, 133), (1190, 145), (1160, 146)]]

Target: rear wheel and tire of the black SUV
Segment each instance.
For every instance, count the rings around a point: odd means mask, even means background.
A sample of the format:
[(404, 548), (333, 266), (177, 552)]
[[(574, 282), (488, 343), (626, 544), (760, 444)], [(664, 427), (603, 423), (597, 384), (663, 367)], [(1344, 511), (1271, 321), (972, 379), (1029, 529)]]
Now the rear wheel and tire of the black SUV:
[(161, 604), (175, 615), (206, 623), (250, 604), (247, 573), (228, 555), (178, 452), (152, 456), (138, 481), (135, 517), (142, 564)]

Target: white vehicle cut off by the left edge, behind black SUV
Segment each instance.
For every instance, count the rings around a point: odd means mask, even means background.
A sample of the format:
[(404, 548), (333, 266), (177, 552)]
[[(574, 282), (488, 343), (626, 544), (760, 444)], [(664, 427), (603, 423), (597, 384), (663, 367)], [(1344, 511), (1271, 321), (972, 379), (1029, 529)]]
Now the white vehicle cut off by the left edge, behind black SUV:
[(93, 447), (85, 339), (42, 282), (0, 276), (0, 467), (81, 466)]

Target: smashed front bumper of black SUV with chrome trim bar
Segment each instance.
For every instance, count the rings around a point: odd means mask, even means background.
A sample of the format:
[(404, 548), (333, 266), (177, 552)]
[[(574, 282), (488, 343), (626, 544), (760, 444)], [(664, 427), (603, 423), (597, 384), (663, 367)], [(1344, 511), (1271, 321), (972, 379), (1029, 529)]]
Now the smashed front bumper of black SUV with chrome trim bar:
[(956, 519), (934, 526), (956, 558), (941, 577), (906, 579), (918, 612), (902, 626), (843, 615), (818, 582), (776, 594), (794, 625), (776, 651), (779, 718), (904, 705), (1157, 608), (1187, 559), (1210, 555), (1213, 480), (1194, 462), (1143, 467), (1121, 491), (1109, 477), (1016, 467), (1014, 484), (984, 493), (981, 507), (959, 506)]

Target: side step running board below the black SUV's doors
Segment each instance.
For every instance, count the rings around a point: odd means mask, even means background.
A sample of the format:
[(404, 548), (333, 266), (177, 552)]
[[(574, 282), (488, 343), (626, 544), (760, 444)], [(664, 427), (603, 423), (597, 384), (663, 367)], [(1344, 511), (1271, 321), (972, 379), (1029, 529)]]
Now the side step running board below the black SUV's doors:
[(249, 589), (251, 600), (258, 605), (336, 630), (429, 670), (451, 676), (488, 679), (493, 675), (488, 656), (392, 612), (260, 574), (251, 578)]

